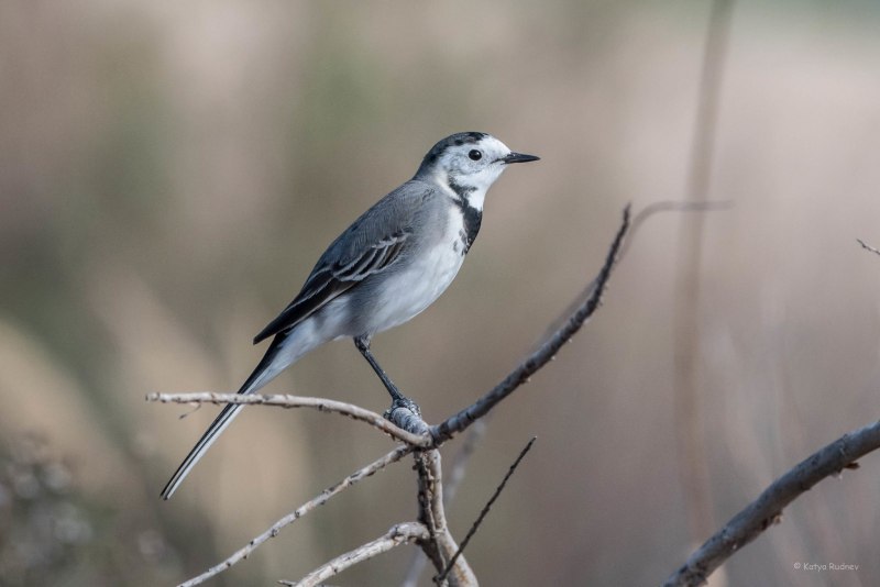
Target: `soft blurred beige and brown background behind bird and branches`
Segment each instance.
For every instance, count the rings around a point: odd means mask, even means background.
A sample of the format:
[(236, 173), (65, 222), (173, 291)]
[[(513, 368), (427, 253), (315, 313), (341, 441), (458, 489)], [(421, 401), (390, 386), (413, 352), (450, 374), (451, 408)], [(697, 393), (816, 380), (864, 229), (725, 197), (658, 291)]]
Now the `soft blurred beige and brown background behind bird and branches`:
[[(686, 192), (707, 2), (0, 4), (0, 583), (169, 585), (392, 447), (248, 409), (170, 501), (250, 343), (336, 235), (457, 131), (539, 164), (490, 192), (453, 287), (373, 350), (437, 422), (497, 383), (598, 269), (626, 202)], [(494, 413), (454, 503), (485, 585), (654, 585), (822, 445), (878, 418), (880, 8), (738, 2), (703, 218), (692, 358), (705, 461), (678, 456), (678, 246), (652, 218), (600, 312)], [(346, 341), (267, 392), (386, 395)], [(186, 416), (182, 419), (182, 416)], [(443, 450), (447, 470), (460, 441)], [(880, 458), (785, 510), (713, 584), (877, 585)], [(684, 475), (682, 475), (684, 473)], [(410, 462), (211, 585), (296, 579), (416, 512)], [(413, 549), (339, 585), (397, 585)], [(810, 573), (794, 563), (858, 564)], [(428, 575), (422, 579), (429, 584)]]

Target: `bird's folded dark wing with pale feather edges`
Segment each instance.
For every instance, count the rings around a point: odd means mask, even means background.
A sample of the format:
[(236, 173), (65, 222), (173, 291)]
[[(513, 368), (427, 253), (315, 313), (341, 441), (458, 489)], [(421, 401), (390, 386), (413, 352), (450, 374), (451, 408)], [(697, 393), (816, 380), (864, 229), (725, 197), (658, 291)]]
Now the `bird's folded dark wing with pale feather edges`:
[(278, 317), (254, 337), (254, 344), (297, 325), (327, 302), (354, 287), (366, 277), (391, 266), (404, 248), (409, 231), (398, 231), (363, 248), (359, 254), (333, 257), (333, 248), (311, 272), (297, 295)]

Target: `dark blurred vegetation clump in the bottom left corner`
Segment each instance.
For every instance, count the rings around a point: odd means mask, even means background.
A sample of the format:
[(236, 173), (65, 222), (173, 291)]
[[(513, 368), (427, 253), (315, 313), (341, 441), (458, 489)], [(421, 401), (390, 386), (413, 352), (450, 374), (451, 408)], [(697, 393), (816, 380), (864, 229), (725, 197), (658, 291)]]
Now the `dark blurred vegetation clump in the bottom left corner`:
[(82, 495), (76, 467), (44, 439), (14, 439), (0, 454), (0, 576), (8, 586), (168, 583), (176, 568), (164, 536)]

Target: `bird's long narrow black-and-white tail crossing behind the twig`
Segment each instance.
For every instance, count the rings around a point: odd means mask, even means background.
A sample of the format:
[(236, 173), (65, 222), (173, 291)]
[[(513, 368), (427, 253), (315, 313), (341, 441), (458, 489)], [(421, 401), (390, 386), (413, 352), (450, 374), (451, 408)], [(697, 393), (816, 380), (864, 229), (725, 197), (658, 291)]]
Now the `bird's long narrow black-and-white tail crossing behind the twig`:
[[(287, 335), (282, 333), (278, 334), (274, 341), (272, 341), (266, 354), (263, 355), (260, 364), (256, 366), (251, 376), (248, 377), (248, 380), (244, 381), (244, 385), (241, 386), (239, 394), (256, 392), (261, 387), (274, 379), (275, 376), (277, 376), (290, 364), (290, 362), (273, 364), (275, 363), (275, 359), (278, 358), (278, 354), (283, 350), (283, 343)], [(168, 499), (172, 497), (172, 495), (174, 495), (174, 491), (177, 490), (177, 486), (179, 486), (186, 476), (189, 475), (189, 472), (196, 466), (196, 463), (199, 462), (199, 458), (205, 455), (211, 444), (213, 444), (213, 442), (220, 436), (223, 430), (226, 430), (230, 422), (232, 422), (232, 419), (238, 416), (239, 410), (241, 410), (243, 407), (244, 406), (240, 403), (228, 403), (220, 411), (220, 414), (215, 419), (211, 425), (208, 427), (208, 430), (205, 431), (205, 434), (201, 435), (193, 450), (189, 451), (189, 454), (186, 455), (184, 462), (180, 463), (180, 466), (174, 472), (174, 475), (172, 475), (172, 478), (168, 479), (168, 483), (165, 484), (165, 489), (162, 490), (163, 499)]]

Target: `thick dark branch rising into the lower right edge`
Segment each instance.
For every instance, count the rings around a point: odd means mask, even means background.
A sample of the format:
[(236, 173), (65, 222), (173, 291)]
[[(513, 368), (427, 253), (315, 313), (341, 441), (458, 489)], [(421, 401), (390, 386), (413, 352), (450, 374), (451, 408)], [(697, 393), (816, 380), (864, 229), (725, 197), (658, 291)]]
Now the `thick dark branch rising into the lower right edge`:
[(880, 422), (855, 430), (812, 454), (758, 496), (697, 549), (664, 587), (703, 585), (713, 571), (765, 530), (782, 520), (782, 509), (818, 481), (858, 468), (856, 461), (880, 448)]

